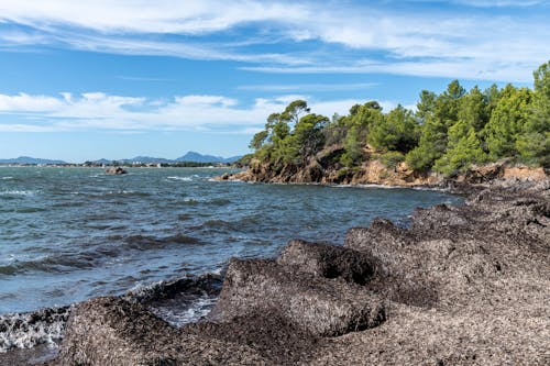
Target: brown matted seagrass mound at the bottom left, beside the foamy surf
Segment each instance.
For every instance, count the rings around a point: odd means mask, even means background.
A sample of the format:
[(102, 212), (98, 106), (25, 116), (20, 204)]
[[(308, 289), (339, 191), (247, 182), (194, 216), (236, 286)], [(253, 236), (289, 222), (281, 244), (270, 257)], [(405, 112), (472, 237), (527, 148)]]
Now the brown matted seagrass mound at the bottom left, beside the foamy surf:
[(186, 334), (141, 304), (109, 297), (76, 307), (56, 362), (62, 366), (264, 363), (245, 345)]

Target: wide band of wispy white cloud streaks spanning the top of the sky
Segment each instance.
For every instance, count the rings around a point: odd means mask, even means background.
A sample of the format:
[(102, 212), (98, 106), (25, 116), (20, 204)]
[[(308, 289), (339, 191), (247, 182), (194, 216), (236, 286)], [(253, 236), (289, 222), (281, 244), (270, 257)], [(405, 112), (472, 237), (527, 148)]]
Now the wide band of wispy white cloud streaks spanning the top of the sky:
[[(0, 26), (6, 27), (0, 48), (48, 45), (232, 60), (245, 70), (266, 73), (507, 81), (530, 81), (532, 69), (548, 60), (548, 16), (536, 7), (548, 10), (549, 1), (453, 2), (465, 8), (405, 11), (393, 1), (0, 1)], [(476, 10), (488, 7), (534, 10), (498, 15)]]

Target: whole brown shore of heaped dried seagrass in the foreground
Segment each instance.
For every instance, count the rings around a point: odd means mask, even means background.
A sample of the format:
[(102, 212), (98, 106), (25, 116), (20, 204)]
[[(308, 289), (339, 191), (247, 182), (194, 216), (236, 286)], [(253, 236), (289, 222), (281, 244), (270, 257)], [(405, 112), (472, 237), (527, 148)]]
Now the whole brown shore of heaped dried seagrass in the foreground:
[(550, 181), (469, 187), (408, 229), (231, 259), (195, 324), (161, 320), (147, 293), (78, 303), (45, 365), (548, 365)]

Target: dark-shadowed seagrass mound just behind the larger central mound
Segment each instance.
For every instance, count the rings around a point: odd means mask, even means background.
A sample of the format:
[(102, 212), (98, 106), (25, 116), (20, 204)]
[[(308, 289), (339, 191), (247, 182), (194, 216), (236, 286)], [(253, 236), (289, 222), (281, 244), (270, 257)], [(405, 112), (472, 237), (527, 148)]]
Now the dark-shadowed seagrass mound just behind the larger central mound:
[(314, 244), (300, 240), (288, 242), (277, 258), (282, 266), (324, 278), (343, 278), (365, 285), (376, 274), (377, 262), (370, 255), (350, 248)]

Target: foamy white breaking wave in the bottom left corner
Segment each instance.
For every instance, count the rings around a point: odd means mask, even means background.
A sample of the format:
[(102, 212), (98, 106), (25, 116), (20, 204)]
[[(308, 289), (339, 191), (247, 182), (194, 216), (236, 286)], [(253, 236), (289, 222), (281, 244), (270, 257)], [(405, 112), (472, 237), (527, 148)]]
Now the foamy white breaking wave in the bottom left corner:
[(31, 348), (38, 344), (57, 346), (63, 339), (70, 307), (41, 309), (0, 315), (0, 353)]

